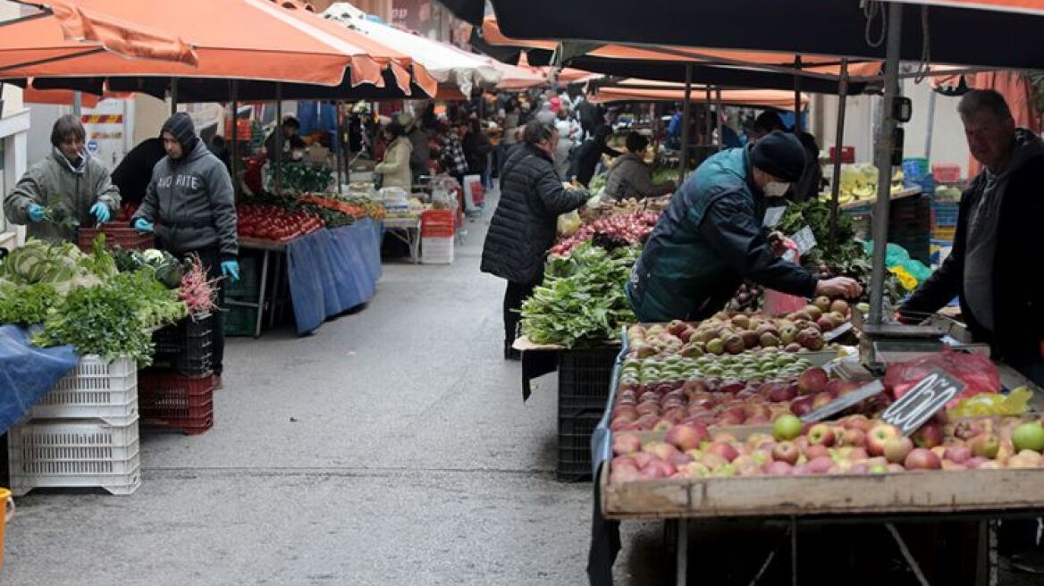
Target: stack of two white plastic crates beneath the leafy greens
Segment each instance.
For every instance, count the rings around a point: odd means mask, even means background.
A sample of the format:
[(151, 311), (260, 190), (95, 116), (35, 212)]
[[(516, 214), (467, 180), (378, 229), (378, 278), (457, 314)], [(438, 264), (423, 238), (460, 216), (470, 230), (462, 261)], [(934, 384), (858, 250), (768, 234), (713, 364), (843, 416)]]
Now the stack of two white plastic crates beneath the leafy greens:
[(138, 370), (130, 359), (79, 360), (7, 436), (10, 488), (103, 488), (130, 494), (141, 484)]

